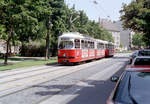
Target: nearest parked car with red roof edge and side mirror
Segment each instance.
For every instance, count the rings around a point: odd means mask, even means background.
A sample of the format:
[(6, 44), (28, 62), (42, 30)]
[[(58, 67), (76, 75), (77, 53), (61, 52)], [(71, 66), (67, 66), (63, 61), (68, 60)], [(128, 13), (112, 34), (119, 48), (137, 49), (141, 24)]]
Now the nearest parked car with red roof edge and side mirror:
[(112, 81), (117, 84), (106, 104), (150, 104), (150, 67), (128, 67)]

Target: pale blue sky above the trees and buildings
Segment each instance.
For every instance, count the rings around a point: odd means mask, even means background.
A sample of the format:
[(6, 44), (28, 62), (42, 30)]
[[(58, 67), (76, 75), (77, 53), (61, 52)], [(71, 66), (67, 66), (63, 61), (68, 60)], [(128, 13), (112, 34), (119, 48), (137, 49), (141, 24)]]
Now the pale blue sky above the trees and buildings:
[(65, 0), (65, 2), (69, 7), (75, 4), (76, 10), (84, 10), (90, 20), (98, 21), (100, 17), (117, 21), (122, 3), (129, 4), (131, 0)]

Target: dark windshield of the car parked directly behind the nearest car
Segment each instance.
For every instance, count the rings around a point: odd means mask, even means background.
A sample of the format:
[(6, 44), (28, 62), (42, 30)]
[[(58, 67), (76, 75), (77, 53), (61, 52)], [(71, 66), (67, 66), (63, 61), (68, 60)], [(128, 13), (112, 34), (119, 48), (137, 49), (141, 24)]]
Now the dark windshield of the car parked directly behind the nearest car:
[(150, 58), (136, 58), (134, 65), (150, 65)]

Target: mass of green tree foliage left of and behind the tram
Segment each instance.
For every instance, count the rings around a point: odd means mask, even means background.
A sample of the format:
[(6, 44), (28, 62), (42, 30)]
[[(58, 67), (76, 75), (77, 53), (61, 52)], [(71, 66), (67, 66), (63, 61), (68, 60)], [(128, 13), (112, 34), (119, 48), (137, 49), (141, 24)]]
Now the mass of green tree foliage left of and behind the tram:
[(75, 31), (113, 41), (112, 35), (89, 20), (84, 11), (75, 10), (75, 6), (68, 8), (64, 0), (1, 0), (0, 5), (0, 38), (6, 41), (10, 38), (13, 44), (22, 42), (24, 45), (31, 40), (35, 50), (42, 48), (44, 53), (44, 45), (39, 43), (47, 41), (50, 33), (50, 50), (54, 56), (57, 54), (58, 36), (63, 32)]

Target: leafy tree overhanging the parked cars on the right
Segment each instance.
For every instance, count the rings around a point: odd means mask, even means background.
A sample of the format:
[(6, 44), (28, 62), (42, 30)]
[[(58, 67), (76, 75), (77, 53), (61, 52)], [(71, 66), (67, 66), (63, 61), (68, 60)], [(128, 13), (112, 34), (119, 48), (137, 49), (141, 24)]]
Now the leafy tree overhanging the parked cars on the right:
[(150, 2), (148, 0), (132, 1), (124, 4), (120, 11), (124, 28), (130, 28), (135, 32), (144, 34), (144, 41), (150, 44)]

